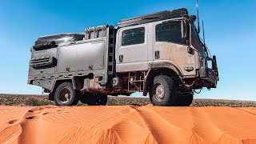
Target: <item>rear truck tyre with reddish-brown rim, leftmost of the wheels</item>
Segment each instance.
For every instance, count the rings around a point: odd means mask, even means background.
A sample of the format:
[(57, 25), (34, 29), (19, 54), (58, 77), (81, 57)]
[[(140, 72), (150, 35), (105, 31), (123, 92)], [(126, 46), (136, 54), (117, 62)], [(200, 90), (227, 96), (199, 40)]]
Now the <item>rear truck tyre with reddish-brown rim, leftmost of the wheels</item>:
[(74, 90), (71, 82), (63, 82), (55, 90), (54, 101), (57, 106), (76, 106), (79, 96), (79, 92)]

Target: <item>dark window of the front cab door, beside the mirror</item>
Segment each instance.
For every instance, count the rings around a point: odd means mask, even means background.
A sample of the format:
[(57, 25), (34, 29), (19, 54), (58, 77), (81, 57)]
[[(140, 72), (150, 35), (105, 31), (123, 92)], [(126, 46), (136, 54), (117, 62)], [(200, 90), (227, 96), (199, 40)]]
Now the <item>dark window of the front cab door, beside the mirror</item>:
[(174, 42), (186, 45), (186, 40), (182, 38), (181, 22), (167, 22), (156, 26), (157, 42)]

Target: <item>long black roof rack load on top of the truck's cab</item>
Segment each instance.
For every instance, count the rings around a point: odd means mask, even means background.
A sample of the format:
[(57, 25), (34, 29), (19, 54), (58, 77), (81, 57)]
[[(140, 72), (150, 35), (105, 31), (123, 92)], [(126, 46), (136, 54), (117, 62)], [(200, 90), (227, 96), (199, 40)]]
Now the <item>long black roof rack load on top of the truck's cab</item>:
[(143, 23), (157, 22), (170, 18), (182, 18), (182, 15), (188, 14), (185, 8), (178, 10), (165, 10), (154, 14), (146, 14), (140, 17), (122, 19), (118, 22), (119, 27), (135, 26)]

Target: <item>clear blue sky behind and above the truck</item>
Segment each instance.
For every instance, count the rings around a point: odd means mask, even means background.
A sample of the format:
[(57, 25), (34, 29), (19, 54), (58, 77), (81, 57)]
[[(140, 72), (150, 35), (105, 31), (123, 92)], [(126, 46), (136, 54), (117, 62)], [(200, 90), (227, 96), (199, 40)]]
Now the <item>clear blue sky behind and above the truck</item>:
[[(83, 32), (102, 24), (116, 26), (122, 18), (181, 7), (196, 14), (194, 0), (1, 0), (0, 93), (42, 93), (42, 88), (26, 84), (30, 47), (38, 36)], [(206, 43), (218, 58), (220, 82), (217, 89), (202, 90), (195, 98), (256, 101), (256, 1), (199, 0), (199, 7)]]

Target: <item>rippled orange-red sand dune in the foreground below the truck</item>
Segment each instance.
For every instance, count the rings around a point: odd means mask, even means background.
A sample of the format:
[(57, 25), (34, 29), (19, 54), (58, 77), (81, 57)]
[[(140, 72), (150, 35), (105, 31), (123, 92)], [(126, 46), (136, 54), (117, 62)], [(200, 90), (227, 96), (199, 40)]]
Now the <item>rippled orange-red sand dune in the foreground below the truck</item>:
[(256, 143), (256, 108), (0, 106), (0, 143)]

